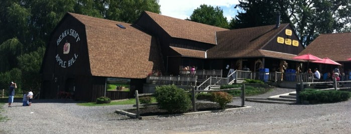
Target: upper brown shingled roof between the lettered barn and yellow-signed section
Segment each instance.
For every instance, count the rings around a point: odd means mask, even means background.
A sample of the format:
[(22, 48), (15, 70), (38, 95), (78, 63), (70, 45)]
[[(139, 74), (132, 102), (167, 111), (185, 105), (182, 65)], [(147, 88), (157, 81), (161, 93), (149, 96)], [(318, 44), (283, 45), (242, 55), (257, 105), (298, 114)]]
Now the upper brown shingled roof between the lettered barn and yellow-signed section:
[(147, 13), (171, 37), (217, 44), (216, 31), (228, 30), (217, 26), (165, 16), (150, 11), (145, 11), (145, 13)]

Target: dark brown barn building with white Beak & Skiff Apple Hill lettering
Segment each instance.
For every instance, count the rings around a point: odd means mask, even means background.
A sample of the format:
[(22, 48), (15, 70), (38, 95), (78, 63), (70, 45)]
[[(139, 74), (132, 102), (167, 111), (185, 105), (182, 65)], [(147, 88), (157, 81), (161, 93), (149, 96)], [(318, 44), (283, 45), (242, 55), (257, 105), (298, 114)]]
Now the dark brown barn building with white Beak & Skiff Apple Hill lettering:
[[(292, 57), (303, 49), (287, 23), (229, 30), (149, 11), (134, 24), (67, 13), (47, 44), (41, 96), (127, 98), (142, 92), (153, 70), (178, 75), (191, 65), (275, 71), (286, 61), (295, 68), (299, 60)], [(127, 91), (106, 91), (110, 88)]]

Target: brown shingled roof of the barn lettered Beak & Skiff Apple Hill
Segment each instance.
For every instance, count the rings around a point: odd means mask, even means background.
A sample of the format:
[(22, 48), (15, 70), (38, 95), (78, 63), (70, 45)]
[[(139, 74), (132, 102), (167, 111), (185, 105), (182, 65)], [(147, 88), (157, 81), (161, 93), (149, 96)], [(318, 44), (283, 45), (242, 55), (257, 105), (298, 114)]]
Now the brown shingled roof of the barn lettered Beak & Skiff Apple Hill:
[(155, 66), (162, 66), (156, 39), (130, 23), (68, 14), (85, 25), (92, 75), (145, 78), (148, 72), (158, 69)]

